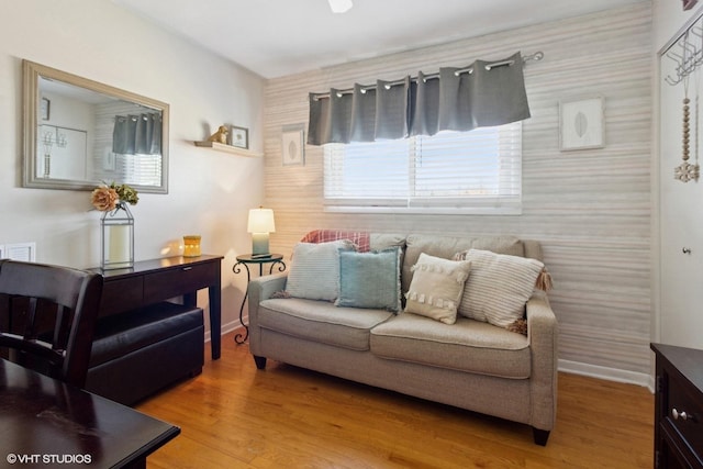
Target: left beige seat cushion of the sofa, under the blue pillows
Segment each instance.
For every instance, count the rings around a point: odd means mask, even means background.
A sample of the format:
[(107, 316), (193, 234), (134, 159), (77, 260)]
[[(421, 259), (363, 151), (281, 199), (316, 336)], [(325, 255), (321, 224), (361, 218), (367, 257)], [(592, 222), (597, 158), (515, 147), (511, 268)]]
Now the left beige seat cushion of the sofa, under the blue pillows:
[(369, 331), (392, 316), (384, 310), (335, 308), (298, 298), (264, 300), (258, 309), (263, 328), (353, 350), (368, 350)]

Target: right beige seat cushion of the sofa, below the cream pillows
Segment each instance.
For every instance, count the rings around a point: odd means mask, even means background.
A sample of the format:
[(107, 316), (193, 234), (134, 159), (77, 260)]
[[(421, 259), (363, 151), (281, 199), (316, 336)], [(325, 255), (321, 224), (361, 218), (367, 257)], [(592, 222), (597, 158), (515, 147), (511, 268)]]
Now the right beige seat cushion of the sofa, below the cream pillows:
[(461, 316), (448, 325), (415, 314), (399, 314), (371, 331), (371, 353), (504, 378), (525, 379), (531, 373), (527, 337)]

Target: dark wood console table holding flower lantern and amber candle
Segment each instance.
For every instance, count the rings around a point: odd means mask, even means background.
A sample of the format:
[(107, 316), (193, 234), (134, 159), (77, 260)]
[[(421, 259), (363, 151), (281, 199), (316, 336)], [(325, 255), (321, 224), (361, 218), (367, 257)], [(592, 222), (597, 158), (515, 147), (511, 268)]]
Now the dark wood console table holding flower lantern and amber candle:
[(222, 256), (165, 257), (140, 260), (130, 269), (102, 270), (100, 316), (122, 313), (176, 297), (196, 306), (198, 290), (207, 288), (210, 297), (210, 345), (212, 359), (220, 358), (222, 343)]

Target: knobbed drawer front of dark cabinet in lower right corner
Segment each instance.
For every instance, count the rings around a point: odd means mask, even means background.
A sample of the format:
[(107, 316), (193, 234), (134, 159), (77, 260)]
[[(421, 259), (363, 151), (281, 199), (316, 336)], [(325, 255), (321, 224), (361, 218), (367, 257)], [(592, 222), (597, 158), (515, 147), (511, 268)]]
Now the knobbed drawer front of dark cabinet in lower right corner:
[(685, 379), (667, 375), (668, 399), (665, 406), (666, 418), (700, 458), (703, 455), (703, 402)]

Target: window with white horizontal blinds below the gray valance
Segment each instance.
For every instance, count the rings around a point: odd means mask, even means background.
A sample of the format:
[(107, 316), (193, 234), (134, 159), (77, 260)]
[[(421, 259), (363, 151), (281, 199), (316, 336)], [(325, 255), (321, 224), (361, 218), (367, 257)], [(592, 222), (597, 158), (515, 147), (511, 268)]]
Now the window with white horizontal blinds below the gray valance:
[(521, 212), (521, 122), (324, 148), (330, 211)]

